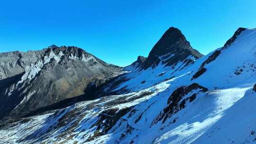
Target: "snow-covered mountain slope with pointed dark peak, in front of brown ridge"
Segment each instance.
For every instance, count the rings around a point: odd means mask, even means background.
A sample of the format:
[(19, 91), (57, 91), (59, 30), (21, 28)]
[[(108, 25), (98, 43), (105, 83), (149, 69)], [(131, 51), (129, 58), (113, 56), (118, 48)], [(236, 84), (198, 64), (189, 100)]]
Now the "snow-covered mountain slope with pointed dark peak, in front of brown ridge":
[(123, 71), (90, 85), (93, 100), (2, 122), (0, 143), (256, 142), (256, 29), (203, 56), (171, 27)]

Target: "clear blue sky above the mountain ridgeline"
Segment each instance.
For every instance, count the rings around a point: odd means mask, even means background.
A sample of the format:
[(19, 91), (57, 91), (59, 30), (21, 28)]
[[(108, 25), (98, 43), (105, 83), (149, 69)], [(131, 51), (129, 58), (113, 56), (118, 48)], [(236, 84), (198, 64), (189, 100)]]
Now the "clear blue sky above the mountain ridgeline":
[(208, 54), (238, 27), (256, 28), (256, 0), (0, 2), (0, 52), (74, 45), (125, 66), (147, 56), (168, 27), (181, 29), (193, 48)]

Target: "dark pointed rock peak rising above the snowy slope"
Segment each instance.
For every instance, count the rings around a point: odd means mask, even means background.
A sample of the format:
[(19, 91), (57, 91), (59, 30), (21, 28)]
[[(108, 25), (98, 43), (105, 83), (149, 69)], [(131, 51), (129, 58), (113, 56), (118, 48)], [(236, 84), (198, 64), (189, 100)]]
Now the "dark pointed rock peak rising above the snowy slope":
[(143, 68), (154, 68), (160, 62), (169, 66), (184, 60), (191, 63), (202, 56), (192, 48), (179, 29), (170, 27), (150, 51)]

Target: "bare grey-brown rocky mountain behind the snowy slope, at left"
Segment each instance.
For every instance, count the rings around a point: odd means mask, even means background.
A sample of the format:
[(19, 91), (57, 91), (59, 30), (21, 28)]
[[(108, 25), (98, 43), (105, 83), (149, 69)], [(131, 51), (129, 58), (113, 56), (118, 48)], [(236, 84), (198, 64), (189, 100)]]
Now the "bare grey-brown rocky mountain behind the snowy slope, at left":
[(0, 54), (0, 118), (83, 95), (88, 84), (119, 70), (74, 46)]

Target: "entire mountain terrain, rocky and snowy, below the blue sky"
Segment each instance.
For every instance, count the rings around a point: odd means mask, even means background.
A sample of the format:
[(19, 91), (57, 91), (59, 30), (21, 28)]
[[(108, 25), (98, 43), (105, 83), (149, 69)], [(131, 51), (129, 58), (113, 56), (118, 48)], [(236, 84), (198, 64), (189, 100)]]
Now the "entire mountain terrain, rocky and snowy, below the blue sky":
[(254, 144), (256, 29), (210, 54), (170, 27), (127, 67), (74, 46), (0, 54), (0, 144)]

